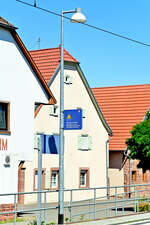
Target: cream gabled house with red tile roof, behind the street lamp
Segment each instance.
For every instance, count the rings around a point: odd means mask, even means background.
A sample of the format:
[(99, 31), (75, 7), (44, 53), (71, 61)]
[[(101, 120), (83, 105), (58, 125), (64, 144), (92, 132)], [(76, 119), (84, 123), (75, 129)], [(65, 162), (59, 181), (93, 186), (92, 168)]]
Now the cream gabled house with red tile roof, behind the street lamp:
[[(32, 58), (54, 93), (57, 104), (39, 107), (35, 118), (35, 132), (59, 134), (60, 47), (30, 51)], [(112, 131), (106, 123), (93, 93), (79, 66), (79, 62), (64, 50), (64, 108), (83, 110), (83, 128), (65, 130), (64, 188), (89, 188), (106, 186), (106, 141)], [(58, 189), (59, 156), (43, 154), (43, 189)], [(37, 152), (32, 163), (25, 163), (25, 191), (37, 189)], [(28, 179), (28, 175), (32, 179)], [(97, 196), (106, 191), (97, 191)], [(65, 195), (65, 201), (69, 200)], [(25, 203), (36, 201), (26, 197)], [(93, 191), (76, 192), (74, 199), (93, 197)], [(50, 201), (57, 201), (50, 196)]]

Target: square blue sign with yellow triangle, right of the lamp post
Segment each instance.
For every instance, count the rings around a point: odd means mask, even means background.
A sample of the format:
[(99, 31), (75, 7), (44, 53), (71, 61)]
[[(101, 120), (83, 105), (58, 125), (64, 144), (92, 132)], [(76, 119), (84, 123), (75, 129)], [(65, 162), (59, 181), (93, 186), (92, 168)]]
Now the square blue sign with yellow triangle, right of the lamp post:
[(82, 109), (64, 110), (64, 130), (82, 129)]

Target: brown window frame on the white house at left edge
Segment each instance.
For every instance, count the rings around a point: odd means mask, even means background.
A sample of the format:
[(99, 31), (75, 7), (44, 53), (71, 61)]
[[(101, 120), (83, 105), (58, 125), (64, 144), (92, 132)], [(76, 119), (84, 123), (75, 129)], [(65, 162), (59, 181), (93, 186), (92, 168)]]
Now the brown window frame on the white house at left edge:
[(10, 102), (0, 101), (0, 104), (6, 104), (7, 112), (6, 112), (6, 129), (0, 128), (0, 134), (10, 134)]

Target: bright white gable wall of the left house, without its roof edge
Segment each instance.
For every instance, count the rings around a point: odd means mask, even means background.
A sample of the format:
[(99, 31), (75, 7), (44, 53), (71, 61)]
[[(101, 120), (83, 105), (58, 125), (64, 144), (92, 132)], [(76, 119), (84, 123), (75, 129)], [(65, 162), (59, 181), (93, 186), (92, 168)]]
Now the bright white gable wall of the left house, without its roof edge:
[[(10, 168), (0, 164), (0, 193), (17, 192), (18, 160), (33, 159), (34, 103), (47, 102), (44, 89), (8, 30), (0, 28), (0, 101), (10, 103), (6, 154), (15, 155)], [(2, 159), (4, 151), (0, 151)], [(12, 182), (10, 182), (10, 180)]]

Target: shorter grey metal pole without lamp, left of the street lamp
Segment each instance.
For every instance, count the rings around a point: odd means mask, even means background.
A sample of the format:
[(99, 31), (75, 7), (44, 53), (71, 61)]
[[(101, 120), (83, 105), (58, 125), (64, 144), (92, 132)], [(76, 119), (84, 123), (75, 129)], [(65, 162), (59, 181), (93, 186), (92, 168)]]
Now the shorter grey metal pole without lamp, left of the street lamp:
[(37, 225), (41, 225), (41, 191), (42, 191), (42, 142), (41, 135), (38, 137), (38, 213)]

